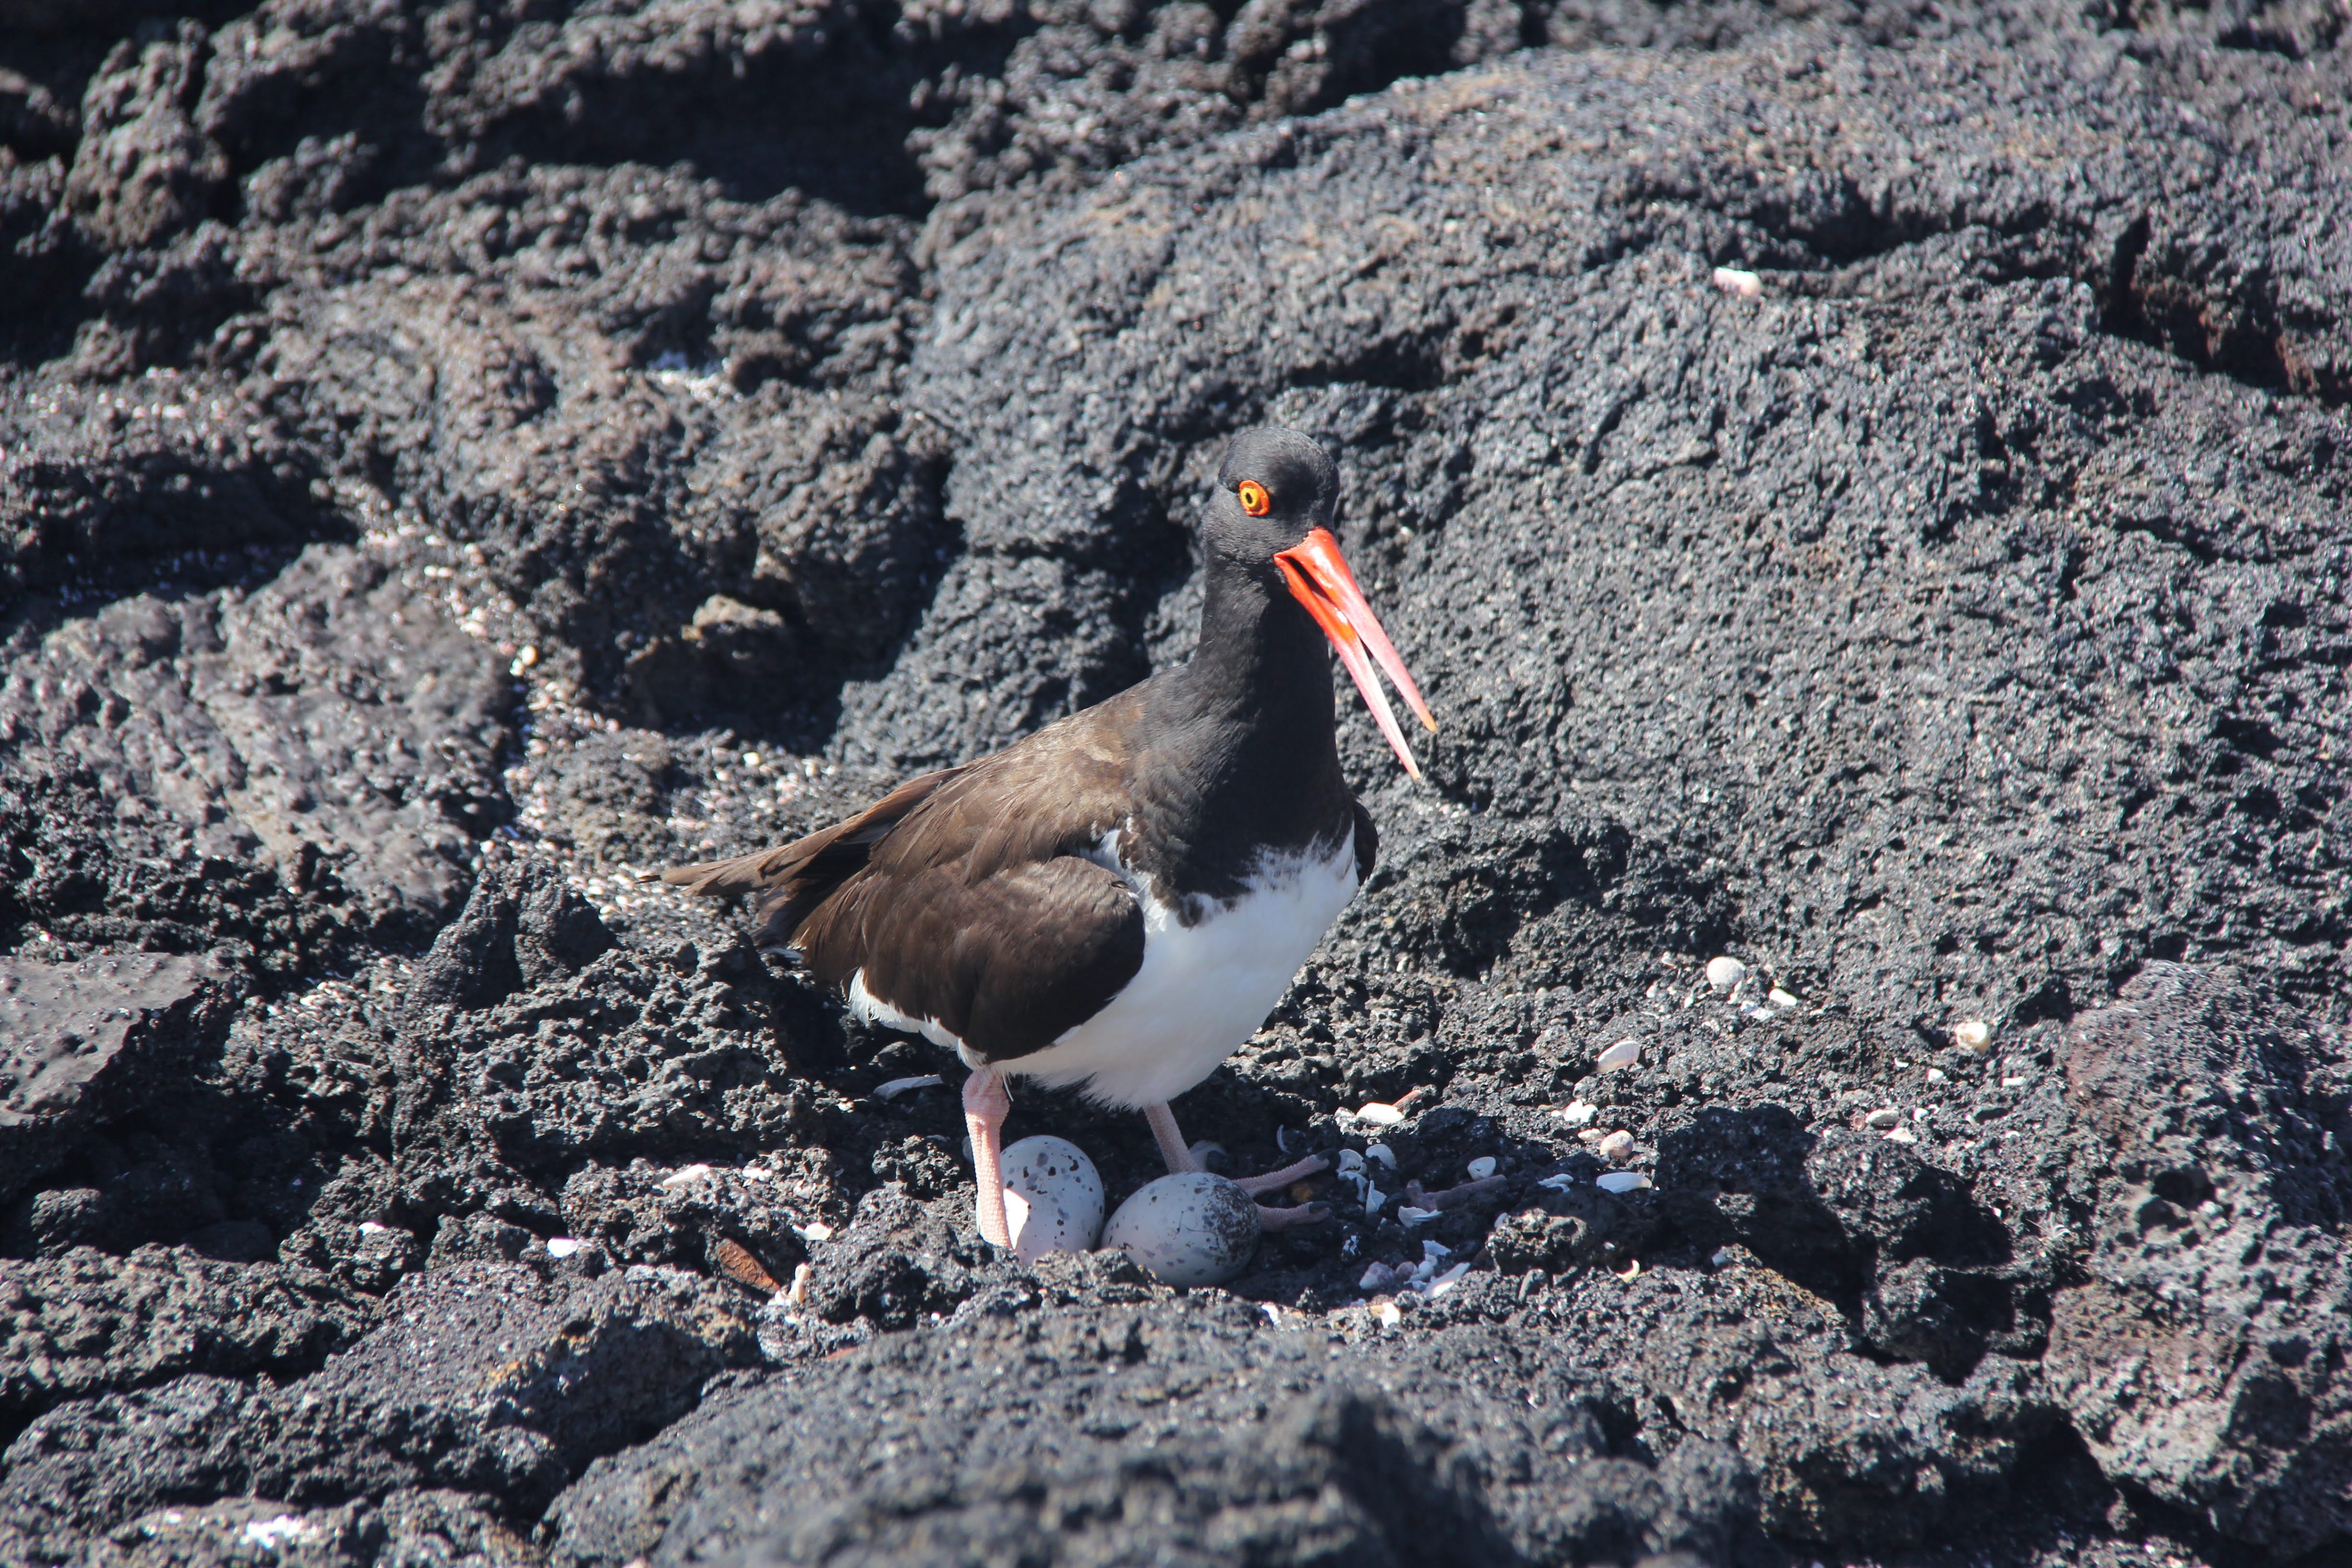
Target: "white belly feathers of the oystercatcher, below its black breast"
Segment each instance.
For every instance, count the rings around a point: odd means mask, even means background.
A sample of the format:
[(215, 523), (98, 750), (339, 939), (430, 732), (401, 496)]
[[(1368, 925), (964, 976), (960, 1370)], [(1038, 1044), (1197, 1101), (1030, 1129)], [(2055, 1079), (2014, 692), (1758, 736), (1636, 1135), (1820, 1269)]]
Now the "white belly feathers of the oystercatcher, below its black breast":
[[(1117, 839), (1105, 842), (1112, 867)], [(1134, 882), (1134, 879), (1129, 879)], [(1174, 1100), (1258, 1032), (1315, 945), (1355, 898), (1355, 832), (1331, 856), (1268, 860), (1249, 891), (1185, 926), (1136, 884), (1143, 966), (1110, 1004), (1004, 1072), (1084, 1084), (1089, 1100)]]

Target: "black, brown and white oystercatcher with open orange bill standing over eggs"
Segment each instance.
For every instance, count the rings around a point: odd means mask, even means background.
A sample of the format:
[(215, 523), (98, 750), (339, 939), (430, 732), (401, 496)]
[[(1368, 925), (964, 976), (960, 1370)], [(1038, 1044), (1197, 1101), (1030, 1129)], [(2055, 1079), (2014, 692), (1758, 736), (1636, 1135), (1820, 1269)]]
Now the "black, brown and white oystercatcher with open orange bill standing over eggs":
[[(1141, 1110), (1169, 1171), (1200, 1168), (1169, 1100), (1265, 1023), (1371, 872), (1378, 835), (1338, 769), (1324, 637), (1421, 778), (1374, 665), (1437, 722), (1338, 552), (1336, 508), (1322, 447), (1282, 428), (1240, 435), (1202, 515), (1190, 663), (910, 778), (847, 823), (663, 872), (694, 893), (753, 893), (762, 950), (795, 954), (861, 1018), (964, 1058), (978, 1225), (995, 1246), (1009, 1246), (1007, 1077)], [(1279, 1227), (1319, 1211), (1261, 1213)]]

